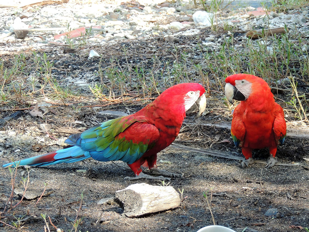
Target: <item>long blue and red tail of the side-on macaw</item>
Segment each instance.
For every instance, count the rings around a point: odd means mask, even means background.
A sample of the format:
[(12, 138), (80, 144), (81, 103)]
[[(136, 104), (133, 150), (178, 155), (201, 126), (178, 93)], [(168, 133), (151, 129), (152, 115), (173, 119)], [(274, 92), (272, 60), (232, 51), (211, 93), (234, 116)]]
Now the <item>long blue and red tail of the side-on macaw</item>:
[(50, 152), (44, 155), (31, 157), (28, 159), (24, 159), (21, 161), (15, 161), (12, 163), (8, 163), (3, 165), (3, 167), (13, 165), (16, 167), (17, 165), (29, 165), (29, 166), (47, 166), (52, 164), (59, 163), (72, 163), (76, 161), (81, 161), (87, 158), (90, 158), (90, 154), (88, 151), (82, 150), (82, 148), (78, 146), (73, 146), (70, 148), (65, 148), (58, 150), (56, 152)]

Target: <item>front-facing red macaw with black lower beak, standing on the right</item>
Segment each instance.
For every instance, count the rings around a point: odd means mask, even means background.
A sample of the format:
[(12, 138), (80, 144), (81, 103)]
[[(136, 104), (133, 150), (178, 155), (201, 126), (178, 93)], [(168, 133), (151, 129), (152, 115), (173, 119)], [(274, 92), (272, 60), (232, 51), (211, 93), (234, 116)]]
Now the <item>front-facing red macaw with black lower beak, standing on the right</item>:
[(286, 121), (279, 104), (273, 98), (269, 85), (249, 74), (235, 74), (225, 79), (225, 96), (229, 102), (241, 101), (235, 107), (231, 134), (235, 145), (241, 147), (246, 160), (242, 166), (253, 163), (252, 149), (269, 148), (270, 168), (277, 160), (277, 145), (286, 137)]

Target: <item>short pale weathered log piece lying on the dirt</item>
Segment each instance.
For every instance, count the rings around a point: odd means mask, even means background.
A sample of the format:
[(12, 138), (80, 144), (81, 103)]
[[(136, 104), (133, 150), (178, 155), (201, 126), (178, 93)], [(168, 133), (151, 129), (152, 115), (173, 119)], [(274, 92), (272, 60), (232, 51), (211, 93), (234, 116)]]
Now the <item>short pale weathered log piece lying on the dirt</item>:
[(132, 184), (116, 191), (114, 201), (127, 217), (139, 217), (179, 207), (179, 193), (171, 186)]

